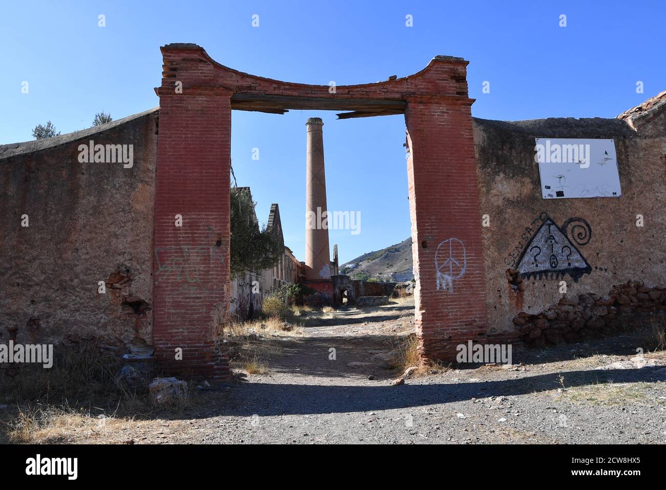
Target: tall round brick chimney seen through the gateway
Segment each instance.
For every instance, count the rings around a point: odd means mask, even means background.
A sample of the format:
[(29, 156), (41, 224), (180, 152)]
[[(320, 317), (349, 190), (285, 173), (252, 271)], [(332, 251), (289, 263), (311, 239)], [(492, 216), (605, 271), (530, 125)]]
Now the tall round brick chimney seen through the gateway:
[[(305, 202), (305, 279), (330, 281), (328, 219), (326, 216), (326, 175), (324, 173), (324, 136), (320, 117), (310, 117), (308, 130)], [(322, 226), (323, 225), (323, 226)]]

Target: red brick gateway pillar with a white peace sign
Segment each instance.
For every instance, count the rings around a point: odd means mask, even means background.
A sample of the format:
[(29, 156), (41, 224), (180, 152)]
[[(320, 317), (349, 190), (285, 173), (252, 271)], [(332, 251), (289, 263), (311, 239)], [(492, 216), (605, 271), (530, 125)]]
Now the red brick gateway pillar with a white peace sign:
[(416, 328), (426, 359), (486, 331), (470, 99), (408, 97), (408, 179)]

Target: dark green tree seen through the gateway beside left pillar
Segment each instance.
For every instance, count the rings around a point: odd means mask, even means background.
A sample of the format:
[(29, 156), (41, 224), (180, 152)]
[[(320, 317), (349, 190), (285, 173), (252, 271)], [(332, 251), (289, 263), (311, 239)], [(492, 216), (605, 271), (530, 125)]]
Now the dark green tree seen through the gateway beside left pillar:
[(256, 203), (242, 187), (231, 189), (231, 237), (230, 267), (231, 277), (236, 278), (244, 271), (262, 271), (274, 267), (284, 245), (266, 225), (259, 227), (254, 213)]

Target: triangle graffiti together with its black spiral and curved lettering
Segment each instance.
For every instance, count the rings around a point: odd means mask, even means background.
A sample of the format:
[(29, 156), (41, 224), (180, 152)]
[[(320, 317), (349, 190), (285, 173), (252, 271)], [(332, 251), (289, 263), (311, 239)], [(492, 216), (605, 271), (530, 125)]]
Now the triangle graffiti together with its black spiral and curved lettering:
[[(525, 279), (557, 279), (568, 274), (577, 282), (583, 274), (589, 274), (592, 269), (577, 249), (587, 245), (592, 237), (589, 223), (582, 218), (570, 218), (558, 227), (545, 213), (532, 224), (539, 221), (535, 229), (525, 229), (521, 236), (521, 244), (525, 245), (514, 247), (505, 263)], [(513, 259), (515, 251), (519, 255)]]

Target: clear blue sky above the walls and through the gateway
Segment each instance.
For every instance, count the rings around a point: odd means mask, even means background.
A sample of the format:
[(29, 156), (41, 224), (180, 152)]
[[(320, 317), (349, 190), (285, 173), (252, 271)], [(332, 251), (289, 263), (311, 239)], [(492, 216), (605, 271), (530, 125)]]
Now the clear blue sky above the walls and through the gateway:
[[(476, 117), (615, 117), (666, 89), (663, 1), (3, 1), (0, 143), (37, 123), (69, 133), (96, 112), (159, 105), (159, 47), (197, 43), (234, 69), (338, 85), (410, 75), (434, 55), (470, 61)], [(98, 27), (98, 15), (106, 27)], [(259, 15), (259, 27), (251, 17)], [(411, 14), (414, 27), (406, 27)], [(559, 15), (567, 27), (559, 27)], [(21, 93), (21, 82), (29, 93)], [(490, 81), (490, 93), (482, 83)], [(645, 93), (636, 93), (636, 82)], [(305, 126), (324, 119), (329, 209), (361, 212), (361, 233), (331, 231), (341, 263), (410, 235), (404, 117), (336, 121), (333, 112), (234, 111), (232, 159), (266, 221), (280, 204), (304, 258)], [(253, 161), (252, 148), (260, 149)]]

